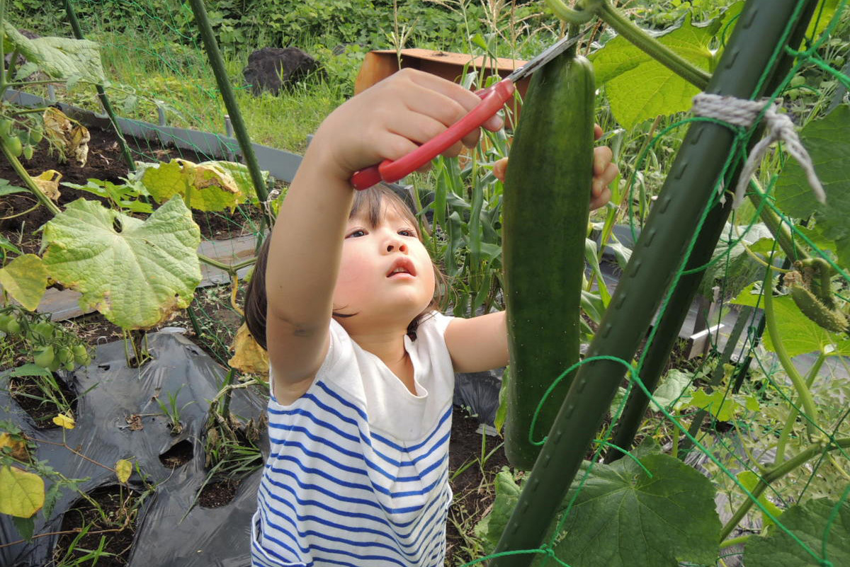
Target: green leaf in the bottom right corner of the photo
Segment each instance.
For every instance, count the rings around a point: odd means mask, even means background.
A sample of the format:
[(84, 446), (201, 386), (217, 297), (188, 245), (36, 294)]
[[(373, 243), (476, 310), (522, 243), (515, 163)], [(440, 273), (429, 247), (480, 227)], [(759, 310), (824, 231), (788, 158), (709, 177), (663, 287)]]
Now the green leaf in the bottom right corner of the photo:
[(782, 525), (793, 537), (774, 525), (768, 536), (746, 542), (747, 567), (820, 567), (821, 557), (836, 567), (850, 565), (850, 502), (819, 498), (792, 506)]

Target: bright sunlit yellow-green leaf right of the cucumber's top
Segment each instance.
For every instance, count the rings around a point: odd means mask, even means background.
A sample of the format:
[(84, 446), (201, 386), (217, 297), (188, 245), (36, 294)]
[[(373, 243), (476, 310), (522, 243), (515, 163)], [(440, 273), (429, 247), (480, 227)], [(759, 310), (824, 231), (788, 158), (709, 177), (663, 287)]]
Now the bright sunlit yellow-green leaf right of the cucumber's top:
[[(711, 25), (696, 26), (688, 16), (680, 27), (656, 39), (700, 69), (708, 70), (714, 60), (708, 44), (722, 23), (718, 19)], [(688, 110), (692, 98), (700, 92), (622, 36), (607, 42), (591, 59), (597, 84), (605, 85), (611, 111), (625, 128), (657, 115)]]

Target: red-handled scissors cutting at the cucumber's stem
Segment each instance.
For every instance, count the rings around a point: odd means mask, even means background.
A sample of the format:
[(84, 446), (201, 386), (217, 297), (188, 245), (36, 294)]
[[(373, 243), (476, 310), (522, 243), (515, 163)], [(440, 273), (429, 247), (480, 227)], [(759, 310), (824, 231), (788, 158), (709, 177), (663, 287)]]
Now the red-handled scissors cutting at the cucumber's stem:
[(513, 97), (513, 92), (516, 90), (515, 83), (546, 65), (559, 53), (563, 53), (564, 50), (575, 45), (575, 42), (578, 42), (586, 31), (581, 31), (569, 38), (564, 37), (495, 85), (476, 91), (475, 94), (481, 98), (481, 102), (474, 109), (470, 110), (461, 120), (449, 126), (445, 132), (423, 143), (410, 154), (394, 161), (383, 160), (375, 166), (355, 171), (350, 179), (352, 186), (355, 189), (367, 189), (378, 182), (395, 182), (424, 166), (460, 141), (469, 132), (484, 124), (490, 116), (495, 115)]

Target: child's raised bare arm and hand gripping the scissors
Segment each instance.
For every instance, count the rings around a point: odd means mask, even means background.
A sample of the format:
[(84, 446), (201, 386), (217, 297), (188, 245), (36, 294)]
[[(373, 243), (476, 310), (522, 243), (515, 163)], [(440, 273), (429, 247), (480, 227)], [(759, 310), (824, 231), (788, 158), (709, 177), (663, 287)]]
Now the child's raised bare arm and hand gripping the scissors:
[[(349, 177), (397, 160), (459, 120), (474, 93), (402, 70), (351, 98), (316, 131), (271, 234), (266, 267), (266, 342), (275, 394), (294, 400), (309, 388), (328, 348), (332, 298), (354, 198)], [(501, 127), (491, 118), (486, 127)], [(472, 145), (473, 132), (463, 140)], [(456, 155), (461, 144), (445, 152)]]

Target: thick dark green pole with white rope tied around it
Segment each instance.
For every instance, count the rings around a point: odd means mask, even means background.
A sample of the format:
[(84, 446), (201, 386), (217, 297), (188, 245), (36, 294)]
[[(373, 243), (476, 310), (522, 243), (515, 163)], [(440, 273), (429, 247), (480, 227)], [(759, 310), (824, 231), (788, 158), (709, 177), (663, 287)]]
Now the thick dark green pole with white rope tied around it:
[[(761, 96), (766, 87), (763, 71), (773, 73), (775, 66), (770, 66), (777, 63), (774, 57), (789, 39), (785, 35), (788, 22), (799, 18), (801, 5), (798, 0), (749, 0), (706, 92), (735, 98)], [(690, 126), (587, 351), (591, 362), (579, 368), (496, 553), (540, 548), (624, 379), (624, 366), (611, 359), (630, 361), (638, 350), (688, 253), (695, 227), (714, 197), (735, 142), (734, 132), (726, 126), (709, 121)], [(598, 356), (611, 359), (595, 359)], [(492, 559), (490, 565), (524, 567), (535, 555), (502, 555)]]

